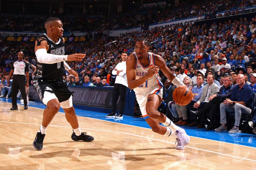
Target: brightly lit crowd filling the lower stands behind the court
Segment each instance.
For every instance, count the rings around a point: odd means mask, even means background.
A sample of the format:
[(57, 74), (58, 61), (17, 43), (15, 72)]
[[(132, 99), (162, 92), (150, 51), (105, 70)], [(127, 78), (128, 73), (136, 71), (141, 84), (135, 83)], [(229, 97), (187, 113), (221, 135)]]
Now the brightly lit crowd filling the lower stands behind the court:
[[(253, 92), (256, 92), (254, 88), (256, 81), (253, 79), (256, 75), (251, 74), (256, 71), (255, 20), (256, 16), (229, 20), (225, 23), (212, 23), (211, 26), (187, 24), (158, 27), (115, 37), (115, 44), (108, 44), (113, 39), (99, 31), (95, 37), (87, 37), (84, 42), (66, 42), (67, 55), (85, 52), (86, 57), (82, 62), (67, 62), (73, 70), (78, 72), (78, 77), (70, 75), (67, 71), (63, 78), (66, 79), (68, 85), (111, 86), (115, 80), (112, 70), (115, 69), (117, 63), (122, 61), (121, 52), (126, 51), (130, 55), (136, 39), (146, 37), (149, 42), (155, 42), (150, 43), (150, 51), (162, 56), (172, 73), (184, 81), (191, 90), (194, 87), (201, 88), (207, 85), (208, 81), (204, 79), (209, 75), (214, 85), (221, 88), (225, 84), (226, 76), (232, 85), (236, 85), (236, 76), (242, 74), (245, 77), (245, 83), (252, 87)], [(177, 36), (172, 37), (174, 33), (177, 33)], [(4, 78), (8, 75), (11, 66), (11, 63), (5, 64), (4, 60), (16, 59), (18, 51), (23, 51), (25, 56), (29, 57), (29, 62), (36, 65), (34, 43), (10, 43), (1, 38), (0, 76), (2, 82), (5, 81)], [(201, 85), (197, 81), (198, 74), (202, 77)], [(162, 82), (166, 81), (161, 71), (159, 76)], [(200, 95), (196, 91), (195, 93)], [(200, 100), (200, 96), (195, 96), (194, 99), (196, 103), (196, 99)], [(175, 103), (171, 106), (176, 108), (176, 111), (173, 107), (170, 111), (174, 122), (181, 125), (192, 123), (191, 126), (204, 127), (203, 122), (194, 122), (196, 117), (191, 119), (192, 117), (187, 113), (188, 110), (193, 109), (186, 107), (185, 111), (185, 107), (177, 106)], [(190, 107), (193, 108), (194, 105)], [(234, 130), (237, 131), (237, 129)]]

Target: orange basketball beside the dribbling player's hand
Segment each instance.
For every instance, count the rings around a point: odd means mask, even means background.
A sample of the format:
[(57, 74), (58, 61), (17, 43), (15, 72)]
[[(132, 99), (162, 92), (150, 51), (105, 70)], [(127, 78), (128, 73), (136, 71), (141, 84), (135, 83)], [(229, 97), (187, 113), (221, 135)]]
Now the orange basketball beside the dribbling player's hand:
[(175, 103), (185, 106), (193, 99), (193, 93), (187, 86), (179, 86), (172, 93)]

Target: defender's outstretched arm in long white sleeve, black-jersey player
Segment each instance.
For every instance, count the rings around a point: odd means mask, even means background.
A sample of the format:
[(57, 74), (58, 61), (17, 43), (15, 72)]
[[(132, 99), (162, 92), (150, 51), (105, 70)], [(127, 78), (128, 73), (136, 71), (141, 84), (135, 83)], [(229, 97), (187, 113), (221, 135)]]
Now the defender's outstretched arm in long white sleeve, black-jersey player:
[(84, 59), (85, 54), (72, 54), (72, 55), (54, 55), (47, 53), (49, 49), (49, 45), (47, 41), (41, 41), (39, 46), (37, 46), (37, 41), (35, 45), (35, 53), (36, 58), (39, 63), (53, 64), (62, 62), (65, 60), (68, 61), (82, 61)]

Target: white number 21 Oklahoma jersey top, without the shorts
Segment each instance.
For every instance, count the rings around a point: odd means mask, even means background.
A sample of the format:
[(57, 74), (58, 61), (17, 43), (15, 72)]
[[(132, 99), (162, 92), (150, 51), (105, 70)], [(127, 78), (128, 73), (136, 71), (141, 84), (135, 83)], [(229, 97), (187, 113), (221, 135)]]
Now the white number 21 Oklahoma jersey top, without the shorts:
[[(149, 66), (155, 65), (155, 56), (154, 56), (154, 53), (149, 52), (148, 53), (149, 64), (148, 66), (143, 66), (140, 63), (140, 60), (138, 60), (136, 53), (133, 52), (132, 54), (136, 57), (136, 66), (134, 69), (136, 70), (136, 79), (139, 79), (147, 75)], [(151, 89), (157, 89), (155, 92), (157, 94), (158, 92), (160, 92), (160, 89), (162, 87), (163, 87), (162, 82), (157, 78), (157, 74), (155, 74), (152, 78), (149, 78), (142, 85), (135, 88), (134, 91), (136, 93), (143, 93), (143, 92), (150, 91)]]

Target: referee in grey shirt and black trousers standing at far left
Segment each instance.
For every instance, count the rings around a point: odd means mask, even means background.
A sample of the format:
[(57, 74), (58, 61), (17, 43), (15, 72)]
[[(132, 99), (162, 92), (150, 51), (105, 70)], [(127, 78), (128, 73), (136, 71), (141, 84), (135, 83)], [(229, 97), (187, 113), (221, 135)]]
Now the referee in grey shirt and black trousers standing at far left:
[[(18, 53), (18, 61), (15, 61), (12, 65), (11, 72), (10, 72), (10, 79), (12, 78), (12, 108), (11, 110), (18, 110), (17, 106), (17, 94), (18, 89), (20, 89), (22, 98), (24, 100), (24, 110), (28, 109), (28, 101), (27, 101), (27, 94), (25, 90), (25, 85), (28, 87), (29, 82), (29, 68), (28, 63), (23, 60), (24, 53), (20, 51)], [(26, 82), (27, 77), (27, 83)]]

